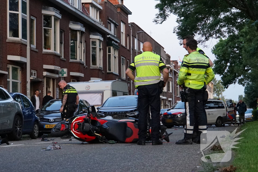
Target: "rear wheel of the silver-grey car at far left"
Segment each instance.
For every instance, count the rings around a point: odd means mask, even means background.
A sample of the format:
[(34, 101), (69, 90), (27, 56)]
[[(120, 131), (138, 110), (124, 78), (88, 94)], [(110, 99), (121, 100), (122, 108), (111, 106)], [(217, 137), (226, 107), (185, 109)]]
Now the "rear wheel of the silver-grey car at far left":
[(18, 141), (21, 140), (22, 137), (22, 120), (21, 117), (15, 115), (13, 120), (13, 131), (12, 133), (7, 135), (9, 140)]

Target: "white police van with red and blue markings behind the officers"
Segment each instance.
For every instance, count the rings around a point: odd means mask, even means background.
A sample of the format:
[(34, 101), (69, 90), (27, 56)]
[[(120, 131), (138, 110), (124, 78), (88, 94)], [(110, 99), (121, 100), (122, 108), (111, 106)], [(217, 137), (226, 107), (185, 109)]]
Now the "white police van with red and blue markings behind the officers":
[[(233, 103), (228, 99), (224, 103), (220, 99), (208, 99), (205, 104), (205, 111), (207, 115), (207, 124), (216, 127), (222, 127), (227, 122), (227, 114), (233, 110)], [(168, 109), (162, 115), (162, 123), (168, 128), (173, 126), (185, 125), (185, 109), (184, 102), (177, 102), (171, 109)]]

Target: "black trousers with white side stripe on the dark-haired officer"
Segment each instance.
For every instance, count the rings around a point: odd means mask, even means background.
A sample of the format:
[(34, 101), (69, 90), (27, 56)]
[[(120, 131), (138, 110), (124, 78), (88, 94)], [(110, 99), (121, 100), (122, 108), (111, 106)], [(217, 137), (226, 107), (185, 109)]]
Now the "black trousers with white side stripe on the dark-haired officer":
[(207, 116), (203, 104), (204, 88), (193, 89), (186, 87), (185, 114), (186, 125), (184, 128), (184, 138), (190, 139), (193, 135), (195, 119), (198, 120), (198, 135), (207, 133)]

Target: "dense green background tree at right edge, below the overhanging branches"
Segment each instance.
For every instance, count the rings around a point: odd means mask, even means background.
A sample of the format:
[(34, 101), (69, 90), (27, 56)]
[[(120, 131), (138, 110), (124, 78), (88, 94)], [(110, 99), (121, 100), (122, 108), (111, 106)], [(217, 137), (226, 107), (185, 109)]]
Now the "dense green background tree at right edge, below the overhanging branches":
[(236, 83), (245, 86), (257, 79), (257, 47), (258, 33), (253, 27), (245, 27), (238, 34), (220, 39), (213, 47), (214, 72), (221, 76), (225, 88)]

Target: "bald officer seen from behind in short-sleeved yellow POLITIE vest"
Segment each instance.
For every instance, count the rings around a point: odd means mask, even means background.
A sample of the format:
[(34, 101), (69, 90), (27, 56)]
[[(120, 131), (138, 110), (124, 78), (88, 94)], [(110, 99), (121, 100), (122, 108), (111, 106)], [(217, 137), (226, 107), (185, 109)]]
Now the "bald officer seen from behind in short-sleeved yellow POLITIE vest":
[[(160, 90), (166, 86), (168, 79), (168, 69), (162, 58), (152, 53), (150, 42), (143, 44), (143, 53), (135, 56), (134, 61), (126, 70), (127, 76), (134, 81), (138, 88), (138, 145), (145, 145), (147, 137), (147, 116), (150, 108), (151, 112), (151, 141), (152, 145), (162, 145), (159, 140), (160, 135)], [(134, 71), (137, 71), (134, 77)], [(160, 70), (163, 72), (163, 81), (160, 80)]]

